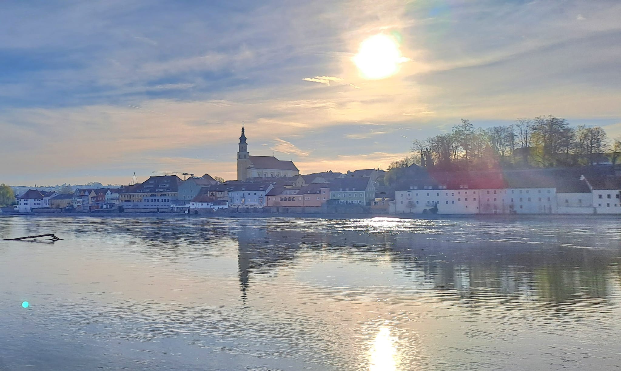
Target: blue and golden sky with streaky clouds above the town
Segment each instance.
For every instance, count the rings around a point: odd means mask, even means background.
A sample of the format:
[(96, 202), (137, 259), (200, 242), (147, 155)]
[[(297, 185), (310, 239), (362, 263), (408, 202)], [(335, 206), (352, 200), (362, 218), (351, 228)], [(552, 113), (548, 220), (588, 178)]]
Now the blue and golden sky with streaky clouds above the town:
[[(301, 173), (386, 169), (461, 118), (615, 137), (619, 19), (618, 0), (6, 1), (0, 183), (235, 179), (242, 121), (250, 155)], [(399, 53), (383, 78), (356, 63), (376, 35)]]

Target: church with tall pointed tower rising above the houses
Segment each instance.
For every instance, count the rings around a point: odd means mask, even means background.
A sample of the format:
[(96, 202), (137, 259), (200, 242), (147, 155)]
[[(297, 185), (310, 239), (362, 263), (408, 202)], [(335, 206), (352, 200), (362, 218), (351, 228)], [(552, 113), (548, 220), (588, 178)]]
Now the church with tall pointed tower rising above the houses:
[(250, 156), (246, 143), (245, 129), (242, 124), (242, 136), (239, 137), (237, 151), (237, 180), (248, 178), (274, 178), (276, 176), (300, 175), (292, 161), (281, 161), (274, 156)]

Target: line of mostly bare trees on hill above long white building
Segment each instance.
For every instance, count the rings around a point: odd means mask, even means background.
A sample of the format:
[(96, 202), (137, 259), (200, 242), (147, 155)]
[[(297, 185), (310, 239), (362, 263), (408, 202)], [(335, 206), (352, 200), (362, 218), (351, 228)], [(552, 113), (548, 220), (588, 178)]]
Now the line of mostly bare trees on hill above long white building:
[(439, 170), (487, 170), (497, 167), (574, 167), (621, 161), (621, 137), (610, 140), (599, 126), (573, 127), (566, 119), (539, 116), (489, 129), (466, 119), (451, 132), (415, 139), (411, 155), (392, 168), (416, 164)]

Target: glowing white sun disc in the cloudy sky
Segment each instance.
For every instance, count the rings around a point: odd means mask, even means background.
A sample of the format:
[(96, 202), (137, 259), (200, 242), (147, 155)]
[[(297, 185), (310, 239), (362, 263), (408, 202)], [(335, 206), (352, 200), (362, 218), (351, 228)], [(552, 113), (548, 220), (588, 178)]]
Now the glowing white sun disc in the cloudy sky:
[(358, 54), (352, 60), (363, 78), (378, 80), (397, 73), (399, 65), (409, 59), (401, 56), (394, 37), (378, 34), (361, 42)]

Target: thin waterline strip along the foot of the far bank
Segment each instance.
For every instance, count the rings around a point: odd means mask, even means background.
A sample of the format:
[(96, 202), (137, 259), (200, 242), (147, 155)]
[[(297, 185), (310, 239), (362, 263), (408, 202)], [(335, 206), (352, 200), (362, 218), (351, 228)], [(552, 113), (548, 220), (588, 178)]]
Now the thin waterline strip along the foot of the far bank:
[(0, 213), (0, 217), (34, 218), (306, 218), (306, 219), (482, 219), (482, 220), (520, 220), (520, 219), (620, 219), (621, 214), (304, 214), (304, 213), (230, 213), (230, 214), (179, 214), (179, 213)]

